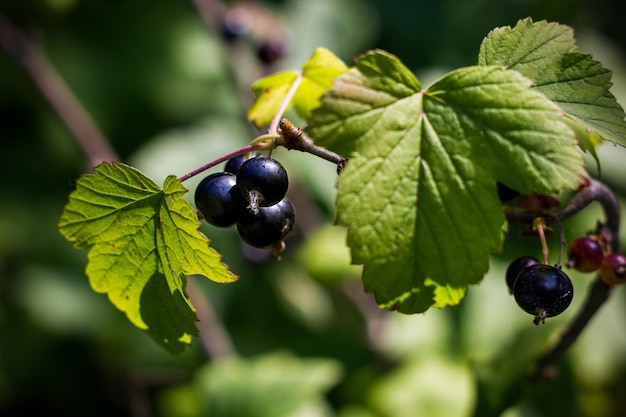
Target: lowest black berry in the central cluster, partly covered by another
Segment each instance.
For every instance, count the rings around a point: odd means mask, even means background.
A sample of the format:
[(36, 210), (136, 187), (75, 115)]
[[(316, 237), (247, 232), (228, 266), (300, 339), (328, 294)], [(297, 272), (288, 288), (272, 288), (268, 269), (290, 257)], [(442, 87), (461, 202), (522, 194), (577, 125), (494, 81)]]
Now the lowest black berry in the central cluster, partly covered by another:
[(247, 212), (237, 223), (244, 242), (257, 248), (269, 248), (282, 241), (296, 221), (296, 212), (288, 199), (269, 207), (259, 207), (258, 213)]

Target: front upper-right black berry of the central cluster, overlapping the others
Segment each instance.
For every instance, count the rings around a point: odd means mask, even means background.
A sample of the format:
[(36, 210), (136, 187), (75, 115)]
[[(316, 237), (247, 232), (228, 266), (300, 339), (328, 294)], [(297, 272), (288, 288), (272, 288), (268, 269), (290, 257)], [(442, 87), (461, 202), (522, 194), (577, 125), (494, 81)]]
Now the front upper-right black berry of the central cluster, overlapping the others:
[(280, 162), (259, 156), (241, 164), (237, 171), (237, 186), (247, 201), (251, 202), (254, 194), (256, 205), (268, 207), (285, 198), (289, 180)]

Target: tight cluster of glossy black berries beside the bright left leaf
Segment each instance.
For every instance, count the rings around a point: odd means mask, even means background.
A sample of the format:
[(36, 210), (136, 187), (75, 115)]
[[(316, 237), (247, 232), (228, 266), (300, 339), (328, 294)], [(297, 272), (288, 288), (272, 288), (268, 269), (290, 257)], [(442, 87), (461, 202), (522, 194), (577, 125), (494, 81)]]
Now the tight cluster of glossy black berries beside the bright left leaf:
[(244, 242), (257, 248), (280, 244), (295, 223), (285, 197), (289, 181), (280, 162), (264, 156), (229, 160), (224, 172), (204, 178), (195, 193), (196, 208), (217, 227), (237, 225)]

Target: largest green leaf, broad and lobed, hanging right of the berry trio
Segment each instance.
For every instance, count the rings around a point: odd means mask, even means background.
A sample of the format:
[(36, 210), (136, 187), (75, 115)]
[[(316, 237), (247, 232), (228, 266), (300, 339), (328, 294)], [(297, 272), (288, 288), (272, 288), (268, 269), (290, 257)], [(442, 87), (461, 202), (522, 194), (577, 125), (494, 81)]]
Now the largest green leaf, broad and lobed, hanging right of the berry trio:
[(384, 307), (456, 304), (500, 247), (496, 181), (529, 193), (584, 176), (559, 108), (517, 71), (473, 66), (427, 90), (394, 56), (368, 52), (314, 111), (308, 133), (349, 157), (337, 222)]

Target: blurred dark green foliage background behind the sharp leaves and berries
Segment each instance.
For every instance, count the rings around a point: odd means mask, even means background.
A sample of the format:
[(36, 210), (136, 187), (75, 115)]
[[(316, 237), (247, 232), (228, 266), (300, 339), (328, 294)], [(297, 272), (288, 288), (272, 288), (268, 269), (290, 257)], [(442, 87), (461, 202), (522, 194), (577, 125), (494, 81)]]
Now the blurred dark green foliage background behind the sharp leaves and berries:
[[(250, 83), (299, 68), (318, 46), (346, 62), (386, 49), (428, 83), (474, 64), (491, 29), (531, 16), (571, 25), (580, 48), (614, 71), (612, 91), (626, 103), (617, 1), (273, 1), (253, 14), (263, 27), (240, 41), (204, 22), (200, 3), (214, 2), (0, 0), (0, 13), (39, 45), (119, 158), (157, 182), (247, 144), (259, 133), (245, 118)], [(256, 49), (275, 29), (287, 53), (265, 65)], [(5, 44), (9, 35), (3, 24)], [(598, 152), (602, 179), (625, 203), (626, 152), (611, 144)], [(334, 167), (284, 149), (274, 155), (289, 171), (298, 211), (282, 261), (242, 247), (233, 230), (203, 226), (241, 279), (190, 278), (209, 340), (170, 356), (90, 289), (86, 253), (58, 234), (89, 162), (0, 48), (0, 415), (626, 416), (623, 288), (559, 362), (554, 381), (520, 379), (580, 307), (590, 276), (572, 273), (573, 305), (535, 327), (508, 295), (504, 270), (516, 256), (539, 255), (540, 245), (513, 228), (458, 307), (381, 311), (349, 265), (344, 231), (332, 226)], [(193, 190), (197, 181), (185, 185)], [(601, 219), (592, 205), (565, 224), (566, 235)]]

